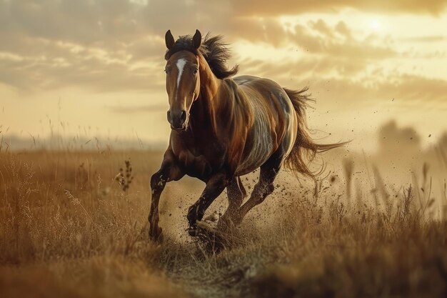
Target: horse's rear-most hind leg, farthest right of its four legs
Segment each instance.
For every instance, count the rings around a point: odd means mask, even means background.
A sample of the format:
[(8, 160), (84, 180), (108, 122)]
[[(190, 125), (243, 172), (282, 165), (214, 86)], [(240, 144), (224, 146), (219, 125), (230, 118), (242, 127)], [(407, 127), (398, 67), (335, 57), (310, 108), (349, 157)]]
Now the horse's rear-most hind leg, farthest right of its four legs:
[(266, 197), (274, 190), (273, 181), (281, 169), (281, 159), (271, 159), (261, 166), (259, 181), (253, 187), (250, 199), (238, 209), (233, 219), (234, 224), (240, 224), (243, 217), (257, 204), (261, 204)]

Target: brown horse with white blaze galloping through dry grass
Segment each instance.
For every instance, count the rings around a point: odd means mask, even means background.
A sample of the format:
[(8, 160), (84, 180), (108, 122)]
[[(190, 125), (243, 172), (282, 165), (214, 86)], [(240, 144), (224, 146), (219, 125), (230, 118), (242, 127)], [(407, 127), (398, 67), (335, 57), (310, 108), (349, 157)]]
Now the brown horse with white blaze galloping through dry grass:
[[(313, 177), (307, 161), (343, 144), (316, 144), (308, 136), (307, 89), (285, 89), (256, 76), (232, 78), (238, 67), (226, 67), (229, 53), (221, 36), (202, 41), (197, 30), (192, 38), (175, 41), (167, 31), (165, 41), (171, 136), (161, 168), (151, 177), (151, 239), (161, 237), (158, 208), (166, 182), (186, 174), (206, 183), (187, 214), (189, 234), (195, 236), (197, 222), (225, 188), (228, 209), (218, 227), (239, 224), (263, 202), (273, 192), (273, 180), (283, 165)], [(259, 181), (242, 204), (246, 190), (240, 177), (259, 167)]]

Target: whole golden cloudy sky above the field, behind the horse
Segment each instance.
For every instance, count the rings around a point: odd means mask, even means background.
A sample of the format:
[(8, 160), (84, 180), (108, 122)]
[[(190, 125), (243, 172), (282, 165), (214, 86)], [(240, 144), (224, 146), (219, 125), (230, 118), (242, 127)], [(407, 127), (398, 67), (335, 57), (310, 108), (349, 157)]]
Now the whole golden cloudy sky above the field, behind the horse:
[(309, 86), (314, 137), (447, 130), (445, 0), (0, 0), (0, 131), (169, 139), (164, 34), (221, 34), (239, 74)]

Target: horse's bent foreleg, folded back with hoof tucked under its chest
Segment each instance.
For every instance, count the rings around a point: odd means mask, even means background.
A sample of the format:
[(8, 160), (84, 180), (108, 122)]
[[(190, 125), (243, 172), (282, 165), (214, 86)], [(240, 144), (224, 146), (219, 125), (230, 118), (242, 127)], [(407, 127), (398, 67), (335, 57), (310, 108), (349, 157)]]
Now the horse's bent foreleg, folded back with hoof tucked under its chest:
[(189, 234), (191, 236), (197, 235), (197, 221), (204, 217), (206, 209), (208, 209), (214, 199), (219, 197), (219, 194), (224, 191), (229, 180), (230, 179), (228, 179), (226, 173), (215, 174), (208, 182), (206, 182), (204, 192), (202, 192), (197, 202), (189, 207), (186, 218), (189, 222)]

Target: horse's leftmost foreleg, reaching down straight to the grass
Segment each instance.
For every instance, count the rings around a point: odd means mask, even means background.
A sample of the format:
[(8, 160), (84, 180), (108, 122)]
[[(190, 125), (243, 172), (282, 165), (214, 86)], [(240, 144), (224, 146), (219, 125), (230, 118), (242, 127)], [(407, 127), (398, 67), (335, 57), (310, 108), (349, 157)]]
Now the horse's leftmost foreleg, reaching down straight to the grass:
[(151, 210), (149, 212), (149, 238), (161, 240), (161, 228), (159, 227), (159, 201), (166, 182), (179, 180), (184, 173), (176, 166), (174, 154), (170, 149), (164, 154), (163, 162), (158, 172), (151, 177)]

